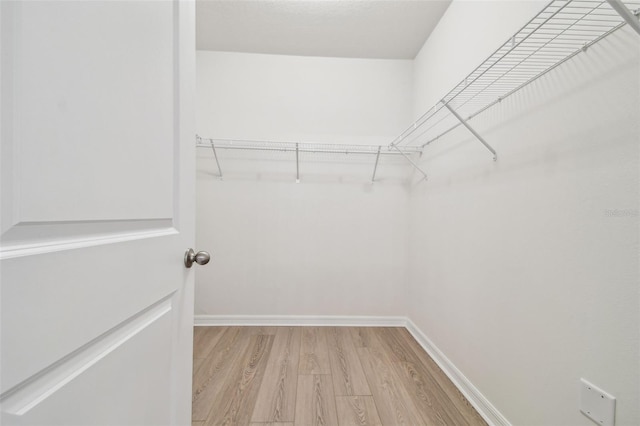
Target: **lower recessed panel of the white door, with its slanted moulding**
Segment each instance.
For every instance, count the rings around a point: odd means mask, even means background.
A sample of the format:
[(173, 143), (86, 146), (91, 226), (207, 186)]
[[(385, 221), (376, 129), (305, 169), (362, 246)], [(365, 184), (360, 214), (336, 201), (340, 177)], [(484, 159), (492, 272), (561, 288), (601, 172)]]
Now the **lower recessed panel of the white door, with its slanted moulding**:
[[(7, 398), (3, 420), (20, 425), (165, 423), (171, 383), (157, 371), (171, 366), (170, 341), (163, 338), (171, 332), (170, 314), (165, 299), (71, 354)], [(122, 380), (117, 374), (122, 365), (134, 367), (136, 374)], [(154, 409), (148, 410), (151, 401)]]

